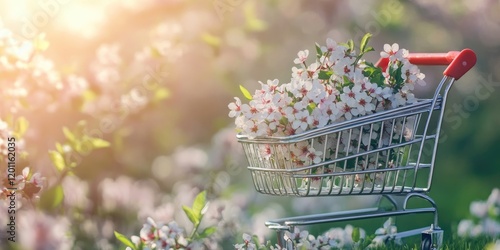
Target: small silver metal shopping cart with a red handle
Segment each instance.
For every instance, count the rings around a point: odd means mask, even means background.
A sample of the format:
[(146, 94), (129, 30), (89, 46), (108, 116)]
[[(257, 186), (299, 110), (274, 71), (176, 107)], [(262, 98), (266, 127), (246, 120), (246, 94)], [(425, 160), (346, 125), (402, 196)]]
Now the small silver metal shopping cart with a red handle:
[[(470, 49), (448, 53), (410, 53), (416, 65), (448, 65), (432, 99), (366, 115), (286, 137), (249, 138), (238, 135), (247, 156), (248, 169), (258, 192), (280, 196), (377, 195), (376, 207), (282, 218), (266, 222), (278, 232), (278, 243), (286, 246), (284, 232), (294, 227), (408, 214), (433, 214), (430, 227), (391, 235), (402, 238), (422, 234), (422, 249), (442, 243), (435, 202), (427, 196), (433, 179), (439, 132), (448, 92), (452, 84), (476, 63)], [(385, 69), (388, 58), (377, 66)], [(361, 143), (364, 141), (365, 143)], [(297, 149), (312, 147), (321, 160), (295, 161)], [(414, 197), (428, 207), (409, 208)], [(392, 209), (382, 208), (383, 200)], [(288, 243), (288, 246), (290, 244)]]

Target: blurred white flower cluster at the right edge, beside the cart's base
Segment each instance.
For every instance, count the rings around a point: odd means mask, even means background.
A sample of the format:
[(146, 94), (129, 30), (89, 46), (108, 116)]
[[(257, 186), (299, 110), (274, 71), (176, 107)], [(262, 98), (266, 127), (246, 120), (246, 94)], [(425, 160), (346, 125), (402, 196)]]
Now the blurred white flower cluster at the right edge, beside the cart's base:
[(458, 224), (459, 236), (500, 236), (500, 189), (493, 189), (486, 201), (472, 202), (470, 213), (473, 219), (465, 219)]

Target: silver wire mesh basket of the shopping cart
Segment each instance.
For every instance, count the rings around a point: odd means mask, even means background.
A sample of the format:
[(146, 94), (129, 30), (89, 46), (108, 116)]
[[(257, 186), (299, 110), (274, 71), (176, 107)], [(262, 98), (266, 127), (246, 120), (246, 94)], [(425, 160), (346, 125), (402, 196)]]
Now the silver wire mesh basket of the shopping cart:
[(281, 196), (427, 192), (453, 81), (444, 77), (432, 99), (299, 135), (238, 135), (255, 189)]

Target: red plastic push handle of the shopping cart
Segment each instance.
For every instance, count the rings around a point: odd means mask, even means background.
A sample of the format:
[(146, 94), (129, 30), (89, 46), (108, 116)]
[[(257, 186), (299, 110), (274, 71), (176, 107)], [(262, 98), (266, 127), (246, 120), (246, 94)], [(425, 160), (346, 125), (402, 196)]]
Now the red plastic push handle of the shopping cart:
[[(476, 53), (471, 49), (450, 51), (448, 53), (410, 53), (408, 60), (416, 65), (448, 65), (443, 75), (460, 79), (476, 64)], [(389, 58), (380, 58), (377, 67), (386, 70)]]

